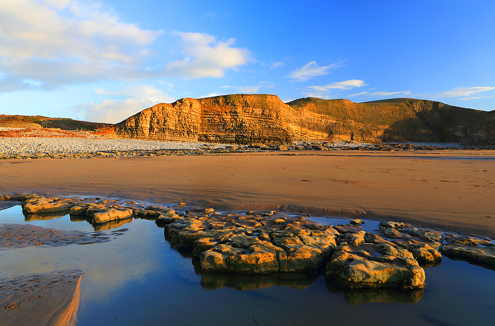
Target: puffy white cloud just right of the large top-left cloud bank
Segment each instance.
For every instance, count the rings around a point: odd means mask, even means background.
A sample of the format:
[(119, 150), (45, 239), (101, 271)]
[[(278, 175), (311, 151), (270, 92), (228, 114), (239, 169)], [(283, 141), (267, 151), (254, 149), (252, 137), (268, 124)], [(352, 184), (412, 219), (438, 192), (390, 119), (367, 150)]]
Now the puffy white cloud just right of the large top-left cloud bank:
[(183, 42), (186, 58), (170, 62), (165, 73), (185, 78), (223, 77), (225, 70), (247, 64), (250, 52), (231, 47), (235, 40), (218, 41), (214, 36), (201, 33), (175, 32)]

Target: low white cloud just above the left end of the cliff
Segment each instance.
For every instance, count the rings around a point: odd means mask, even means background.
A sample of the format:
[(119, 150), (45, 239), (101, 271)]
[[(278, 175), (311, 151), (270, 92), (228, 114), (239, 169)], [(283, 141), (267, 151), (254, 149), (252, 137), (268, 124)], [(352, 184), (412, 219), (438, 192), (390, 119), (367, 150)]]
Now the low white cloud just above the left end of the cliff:
[(168, 94), (149, 85), (130, 85), (114, 91), (95, 89), (94, 93), (125, 98), (104, 99), (99, 103), (89, 102), (72, 107), (83, 120), (114, 124), (157, 103), (174, 101)]

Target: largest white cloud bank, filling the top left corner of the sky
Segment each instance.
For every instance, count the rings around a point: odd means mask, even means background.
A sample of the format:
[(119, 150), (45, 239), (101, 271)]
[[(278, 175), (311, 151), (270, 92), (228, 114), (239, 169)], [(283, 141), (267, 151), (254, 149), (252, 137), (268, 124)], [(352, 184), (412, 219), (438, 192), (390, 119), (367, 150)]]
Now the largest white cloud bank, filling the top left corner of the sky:
[[(0, 72), (18, 89), (136, 80), (146, 73), (141, 62), (161, 31), (119, 21), (98, 6), (76, 0), (2, 0)], [(0, 80), (5, 84), (5, 80)]]

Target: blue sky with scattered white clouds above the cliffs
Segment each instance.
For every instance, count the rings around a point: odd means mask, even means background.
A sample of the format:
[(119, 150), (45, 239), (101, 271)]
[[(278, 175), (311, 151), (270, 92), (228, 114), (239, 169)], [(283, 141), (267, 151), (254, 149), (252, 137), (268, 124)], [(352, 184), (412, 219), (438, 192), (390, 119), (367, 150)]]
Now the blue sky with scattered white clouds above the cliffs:
[(1, 0), (0, 114), (116, 123), (229, 93), (491, 111), (493, 17), (493, 0)]

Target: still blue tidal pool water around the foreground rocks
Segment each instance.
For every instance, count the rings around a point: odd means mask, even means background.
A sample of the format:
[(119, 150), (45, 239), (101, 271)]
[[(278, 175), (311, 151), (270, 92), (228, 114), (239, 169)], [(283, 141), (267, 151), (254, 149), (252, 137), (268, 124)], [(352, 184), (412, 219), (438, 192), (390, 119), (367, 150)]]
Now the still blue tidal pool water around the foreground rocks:
[[(325, 224), (348, 220), (311, 218)], [(19, 206), (0, 223), (93, 232), (69, 216), (26, 222)], [(376, 229), (377, 222), (363, 227)], [(84, 269), (78, 326), (86, 325), (493, 325), (495, 271), (444, 257), (420, 291), (342, 291), (320, 277), (195, 272), (163, 229), (134, 220), (112, 241), (0, 250), (0, 278)], [(381, 302), (371, 302), (381, 301)]]

